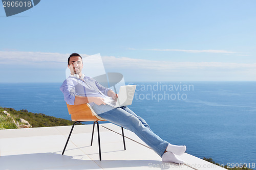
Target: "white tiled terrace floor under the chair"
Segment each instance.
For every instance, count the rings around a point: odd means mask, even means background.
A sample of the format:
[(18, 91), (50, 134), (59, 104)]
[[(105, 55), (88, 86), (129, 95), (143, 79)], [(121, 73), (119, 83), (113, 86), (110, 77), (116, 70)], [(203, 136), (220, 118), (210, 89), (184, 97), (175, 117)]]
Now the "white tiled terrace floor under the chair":
[(187, 165), (161, 162), (161, 158), (134, 133), (100, 124), (101, 157), (95, 126), (75, 126), (64, 155), (62, 150), (72, 126), (0, 130), (0, 170), (22, 169), (224, 169), (187, 153), (178, 156)]

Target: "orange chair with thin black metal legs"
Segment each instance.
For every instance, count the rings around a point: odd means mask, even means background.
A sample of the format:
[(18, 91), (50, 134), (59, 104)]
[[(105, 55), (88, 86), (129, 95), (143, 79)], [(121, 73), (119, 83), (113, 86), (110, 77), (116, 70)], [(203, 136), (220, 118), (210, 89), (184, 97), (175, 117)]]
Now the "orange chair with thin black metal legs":
[[(64, 154), (64, 152), (66, 150), (66, 147), (67, 147), (68, 142), (69, 142), (69, 138), (71, 136), (71, 133), (74, 129), (75, 124), (80, 123), (80, 122), (93, 121), (91, 146), (93, 144), (94, 126), (95, 126), (95, 123), (96, 123), (97, 124), (97, 131), (98, 131), (99, 160), (101, 160), (99, 123), (98, 123), (98, 121), (106, 121), (106, 120), (101, 118), (100, 116), (98, 116), (89, 104), (82, 104), (82, 105), (69, 105), (69, 104), (67, 104), (67, 107), (68, 107), (69, 114), (71, 114), (71, 119), (72, 119), (72, 121), (75, 121), (75, 123), (73, 124), (73, 126), (71, 128), (71, 131), (69, 133), (69, 137), (68, 137), (66, 145), (63, 149), (62, 155)], [(121, 127), (121, 130), (122, 130), (122, 136), (123, 136), (123, 147), (124, 147), (124, 150), (126, 150), (124, 135), (123, 135), (123, 127)]]

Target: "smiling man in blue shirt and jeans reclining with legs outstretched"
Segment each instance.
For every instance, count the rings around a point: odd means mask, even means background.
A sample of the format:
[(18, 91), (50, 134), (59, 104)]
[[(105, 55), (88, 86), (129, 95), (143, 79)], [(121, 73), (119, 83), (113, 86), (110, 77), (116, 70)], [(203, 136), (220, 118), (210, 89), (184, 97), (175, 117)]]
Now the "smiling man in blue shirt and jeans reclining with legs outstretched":
[(96, 80), (82, 74), (83, 63), (79, 54), (70, 55), (68, 67), (71, 75), (63, 82), (60, 90), (69, 105), (89, 103), (100, 117), (134, 132), (162, 157), (163, 162), (184, 163), (176, 155), (182, 155), (186, 151), (186, 146), (173, 145), (162, 140), (150, 129), (144, 119), (137, 116), (128, 107), (113, 108), (104, 103), (103, 98), (111, 96), (116, 99), (117, 94), (113, 90), (103, 87)]

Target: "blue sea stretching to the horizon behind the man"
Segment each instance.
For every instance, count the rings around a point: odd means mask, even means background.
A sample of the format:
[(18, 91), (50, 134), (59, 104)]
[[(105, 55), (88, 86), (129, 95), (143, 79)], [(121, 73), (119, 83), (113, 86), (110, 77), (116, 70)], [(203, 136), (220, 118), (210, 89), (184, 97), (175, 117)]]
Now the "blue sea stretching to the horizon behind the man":
[[(0, 107), (71, 119), (61, 84), (0, 83)], [(137, 84), (129, 108), (162, 139), (199, 158), (256, 169), (255, 81), (126, 84)]]

